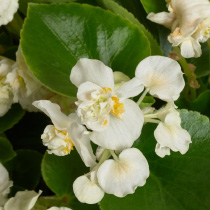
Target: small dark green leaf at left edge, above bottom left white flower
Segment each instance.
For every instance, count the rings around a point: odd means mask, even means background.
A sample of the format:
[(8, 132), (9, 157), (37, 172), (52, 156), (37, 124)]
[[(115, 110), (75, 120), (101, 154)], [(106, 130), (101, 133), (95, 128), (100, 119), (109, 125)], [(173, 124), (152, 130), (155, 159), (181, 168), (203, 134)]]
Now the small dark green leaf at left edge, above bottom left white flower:
[(0, 137), (0, 162), (5, 162), (12, 159), (16, 153), (14, 152), (11, 143), (5, 137)]

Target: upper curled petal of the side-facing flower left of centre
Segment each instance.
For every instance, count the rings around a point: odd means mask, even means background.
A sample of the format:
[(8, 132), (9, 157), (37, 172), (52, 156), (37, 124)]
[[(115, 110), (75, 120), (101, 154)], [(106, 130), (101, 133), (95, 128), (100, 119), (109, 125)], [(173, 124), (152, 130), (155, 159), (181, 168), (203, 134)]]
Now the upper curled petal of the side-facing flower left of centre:
[(70, 120), (61, 112), (58, 104), (52, 103), (48, 100), (40, 100), (33, 102), (33, 105), (43, 111), (52, 120), (57, 129), (62, 130), (69, 127)]

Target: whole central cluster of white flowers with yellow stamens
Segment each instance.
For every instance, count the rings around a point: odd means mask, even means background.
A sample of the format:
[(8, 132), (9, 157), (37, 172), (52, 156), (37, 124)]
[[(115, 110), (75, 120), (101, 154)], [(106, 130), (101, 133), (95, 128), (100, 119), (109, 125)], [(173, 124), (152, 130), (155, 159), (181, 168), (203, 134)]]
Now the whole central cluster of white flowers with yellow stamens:
[[(101, 61), (82, 58), (70, 74), (71, 82), (78, 87), (75, 113), (66, 116), (57, 104), (47, 100), (33, 103), (53, 123), (41, 136), (48, 152), (63, 156), (75, 147), (90, 167), (90, 172), (73, 184), (80, 202), (97, 203), (104, 193), (124, 197), (146, 183), (148, 162), (139, 149), (132, 148), (144, 123), (158, 123), (154, 149), (160, 157), (169, 155), (170, 149), (184, 154), (191, 143), (189, 133), (181, 128), (174, 105), (185, 84), (176, 61), (150, 56), (139, 63), (133, 79), (117, 74), (123, 82), (115, 80), (112, 69)], [(129, 99), (140, 93), (137, 103)], [(152, 107), (141, 110), (139, 105), (147, 93), (167, 105), (159, 110)], [(98, 145), (96, 154), (91, 141)]]

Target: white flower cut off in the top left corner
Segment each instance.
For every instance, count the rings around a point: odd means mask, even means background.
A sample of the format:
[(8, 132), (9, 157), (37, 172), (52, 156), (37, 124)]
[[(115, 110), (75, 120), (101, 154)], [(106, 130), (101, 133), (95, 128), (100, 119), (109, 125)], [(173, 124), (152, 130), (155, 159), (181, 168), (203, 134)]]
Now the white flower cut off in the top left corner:
[(18, 10), (18, 0), (0, 0), (0, 26), (12, 21)]

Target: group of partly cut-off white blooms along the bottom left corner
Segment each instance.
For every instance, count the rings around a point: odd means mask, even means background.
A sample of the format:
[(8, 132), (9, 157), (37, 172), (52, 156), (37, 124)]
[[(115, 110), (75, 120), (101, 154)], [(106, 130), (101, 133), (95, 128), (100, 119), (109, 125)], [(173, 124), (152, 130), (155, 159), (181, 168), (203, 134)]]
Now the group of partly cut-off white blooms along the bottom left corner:
[[(0, 163), (0, 210), (30, 210), (34, 207), (39, 193), (35, 191), (19, 191), (14, 197), (7, 198), (10, 187), (13, 186), (13, 182), (9, 181), (9, 174), (6, 168)], [(51, 207), (48, 210), (71, 210), (67, 207)]]

